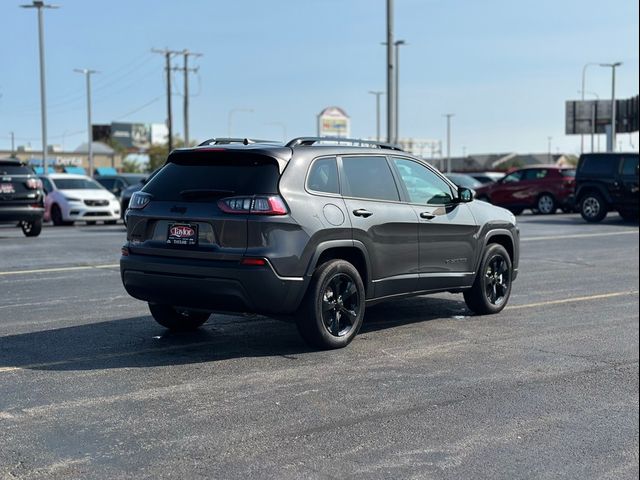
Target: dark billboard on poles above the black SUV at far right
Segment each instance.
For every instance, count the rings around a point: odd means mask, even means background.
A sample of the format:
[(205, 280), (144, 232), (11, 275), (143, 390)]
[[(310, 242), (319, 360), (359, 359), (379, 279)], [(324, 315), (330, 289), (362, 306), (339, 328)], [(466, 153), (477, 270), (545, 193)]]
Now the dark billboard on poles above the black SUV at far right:
[[(565, 106), (565, 133), (588, 135), (606, 133), (611, 125), (611, 100), (567, 100)], [(638, 131), (638, 96), (616, 100), (616, 132)]]

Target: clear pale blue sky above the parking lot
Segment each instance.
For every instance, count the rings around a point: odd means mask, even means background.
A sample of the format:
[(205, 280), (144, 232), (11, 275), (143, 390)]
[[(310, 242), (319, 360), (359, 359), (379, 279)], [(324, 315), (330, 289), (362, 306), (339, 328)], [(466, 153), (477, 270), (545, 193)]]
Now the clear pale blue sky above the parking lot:
[[(37, 23), (20, 0), (0, 2), (0, 149), (40, 145)], [(59, 0), (45, 12), (49, 143), (86, 138), (84, 78), (92, 68), (94, 123), (166, 118), (163, 58), (151, 48), (202, 52), (191, 77), (191, 136), (281, 139), (315, 134), (315, 116), (337, 105), (352, 135), (375, 134), (384, 90), (384, 0)], [(637, 0), (395, 0), (400, 135), (443, 139), (452, 152), (579, 152), (564, 135), (564, 101), (578, 98), (586, 62), (623, 61), (619, 98), (638, 94)], [(177, 60), (176, 60), (177, 62)], [(611, 92), (610, 69), (589, 67), (587, 91)], [(182, 79), (174, 125), (182, 133)], [(133, 112), (133, 113), (131, 113)], [(384, 130), (384, 128), (383, 128)], [(638, 137), (620, 136), (625, 149)], [(602, 141), (604, 145), (604, 140)]]

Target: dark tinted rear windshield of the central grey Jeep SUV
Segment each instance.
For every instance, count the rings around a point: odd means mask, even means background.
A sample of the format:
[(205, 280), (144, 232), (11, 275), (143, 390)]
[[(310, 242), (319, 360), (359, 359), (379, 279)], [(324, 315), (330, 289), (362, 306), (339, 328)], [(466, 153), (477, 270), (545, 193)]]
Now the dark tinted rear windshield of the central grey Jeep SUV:
[(192, 153), (174, 156), (143, 188), (156, 200), (211, 201), (228, 195), (277, 194), (280, 172), (263, 155)]

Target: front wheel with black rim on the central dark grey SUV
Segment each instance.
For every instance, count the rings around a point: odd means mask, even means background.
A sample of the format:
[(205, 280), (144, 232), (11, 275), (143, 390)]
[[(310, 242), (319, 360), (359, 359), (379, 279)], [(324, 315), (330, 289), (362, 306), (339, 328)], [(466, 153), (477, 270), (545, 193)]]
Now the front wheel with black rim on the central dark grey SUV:
[(511, 295), (513, 265), (502, 245), (489, 244), (473, 286), (464, 292), (467, 307), (478, 315), (500, 312)]

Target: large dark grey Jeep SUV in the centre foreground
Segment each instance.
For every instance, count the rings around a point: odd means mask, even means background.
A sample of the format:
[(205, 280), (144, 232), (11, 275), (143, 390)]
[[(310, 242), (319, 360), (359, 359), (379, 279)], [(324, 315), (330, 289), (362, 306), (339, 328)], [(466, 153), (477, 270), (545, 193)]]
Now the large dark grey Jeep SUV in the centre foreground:
[(361, 140), (217, 143), (173, 151), (129, 204), (122, 281), (161, 325), (255, 312), (338, 348), (379, 301), (462, 292), (479, 314), (507, 303), (515, 217), (422, 160)]

